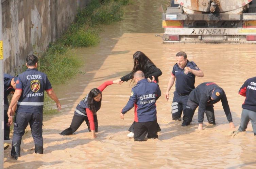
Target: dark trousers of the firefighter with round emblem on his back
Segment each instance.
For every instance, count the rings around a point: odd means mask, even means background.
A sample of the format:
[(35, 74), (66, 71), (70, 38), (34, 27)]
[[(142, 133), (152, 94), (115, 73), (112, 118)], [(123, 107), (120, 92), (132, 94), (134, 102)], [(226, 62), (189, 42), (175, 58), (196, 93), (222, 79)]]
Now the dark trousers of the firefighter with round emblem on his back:
[(13, 129), (13, 146), (11, 152), (12, 156), (20, 156), (21, 138), (24, 135), (25, 128), (27, 128), (28, 124), (30, 125), (31, 134), (35, 143), (35, 153), (42, 154), (44, 152), (42, 138), (42, 121), (42, 113), (17, 112)]

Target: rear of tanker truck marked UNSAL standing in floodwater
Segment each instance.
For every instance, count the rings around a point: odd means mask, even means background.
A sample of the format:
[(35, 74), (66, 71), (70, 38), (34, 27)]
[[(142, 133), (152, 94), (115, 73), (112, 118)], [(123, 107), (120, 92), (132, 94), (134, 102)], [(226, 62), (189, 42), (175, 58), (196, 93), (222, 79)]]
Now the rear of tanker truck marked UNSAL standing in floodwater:
[(256, 0), (171, 0), (164, 43), (256, 43)]

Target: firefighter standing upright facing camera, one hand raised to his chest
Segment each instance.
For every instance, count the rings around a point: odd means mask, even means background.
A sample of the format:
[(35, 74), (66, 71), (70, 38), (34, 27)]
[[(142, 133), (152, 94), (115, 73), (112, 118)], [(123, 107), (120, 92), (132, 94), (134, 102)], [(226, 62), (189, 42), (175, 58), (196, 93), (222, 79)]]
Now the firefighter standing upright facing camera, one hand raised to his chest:
[[(195, 76), (204, 77), (204, 73), (194, 62), (188, 61), (185, 52), (178, 52), (176, 59), (177, 63), (173, 66), (165, 97), (167, 100), (169, 99), (169, 91), (176, 79), (172, 100), (172, 120), (181, 120), (182, 111), (185, 110), (188, 102), (188, 95), (195, 88)], [(210, 117), (209, 123), (214, 124)]]

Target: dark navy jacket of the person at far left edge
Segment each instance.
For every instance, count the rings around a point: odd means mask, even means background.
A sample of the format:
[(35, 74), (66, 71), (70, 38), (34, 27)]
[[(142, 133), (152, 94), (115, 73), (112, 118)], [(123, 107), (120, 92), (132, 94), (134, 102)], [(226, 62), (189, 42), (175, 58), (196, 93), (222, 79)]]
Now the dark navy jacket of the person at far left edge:
[(8, 110), (9, 102), (7, 96), (14, 92), (15, 90), (11, 86), (11, 81), (14, 77), (8, 74), (3, 75), (3, 85), (4, 85), (4, 110)]

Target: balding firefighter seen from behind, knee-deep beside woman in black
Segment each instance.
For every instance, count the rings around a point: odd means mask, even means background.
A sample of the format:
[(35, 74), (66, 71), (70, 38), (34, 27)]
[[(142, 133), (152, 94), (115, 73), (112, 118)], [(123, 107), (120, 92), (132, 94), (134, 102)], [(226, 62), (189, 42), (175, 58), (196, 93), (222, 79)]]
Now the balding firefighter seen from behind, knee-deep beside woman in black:
[(156, 100), (161, 96), (160, 88), (157, 83), (149, 82), (142, 71), (135, 72), (134, 80), (136, 86), (120, 118), (124, 119), (124, 114), (135, 106), (134, 140), (144, 141), (147, 134), (148, 138), (157, 138)]

